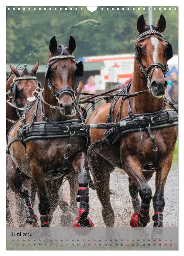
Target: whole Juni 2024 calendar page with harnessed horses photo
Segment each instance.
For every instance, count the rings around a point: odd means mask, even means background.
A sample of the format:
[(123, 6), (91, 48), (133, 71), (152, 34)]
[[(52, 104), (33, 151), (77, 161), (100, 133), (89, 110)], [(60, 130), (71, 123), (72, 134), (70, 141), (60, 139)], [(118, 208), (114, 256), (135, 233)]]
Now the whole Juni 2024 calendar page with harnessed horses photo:
[(178, 250), (178, 9), (6, 6), (7, 250)]

